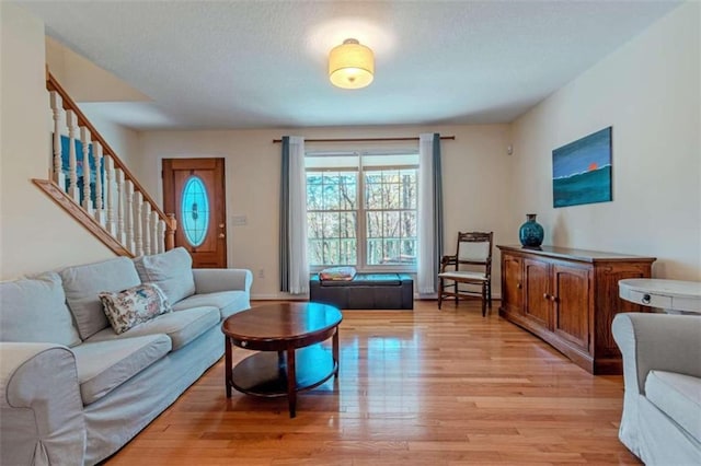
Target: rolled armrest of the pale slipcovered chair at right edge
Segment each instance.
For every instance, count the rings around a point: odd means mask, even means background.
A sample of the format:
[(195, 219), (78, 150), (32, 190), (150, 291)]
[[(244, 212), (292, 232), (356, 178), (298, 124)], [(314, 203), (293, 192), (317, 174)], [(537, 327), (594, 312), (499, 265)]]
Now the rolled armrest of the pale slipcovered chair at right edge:
[(701, 315), (621, 313), (612, 330), (627, 392), (644, 393), (653, 369), (701, 377)]

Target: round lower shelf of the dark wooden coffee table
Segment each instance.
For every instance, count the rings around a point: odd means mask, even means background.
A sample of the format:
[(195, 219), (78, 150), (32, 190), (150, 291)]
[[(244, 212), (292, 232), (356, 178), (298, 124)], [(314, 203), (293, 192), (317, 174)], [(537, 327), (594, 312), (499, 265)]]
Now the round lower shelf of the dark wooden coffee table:
[[(296, 392), (323, 384), (338, 368), (331, 351), (321, 343), (297, 349), (295, 360)], [(261, 351), (239, 362), (231, 378), (231, 386), (248, 395), (287, 396), (287, 357), (284, 351)]]

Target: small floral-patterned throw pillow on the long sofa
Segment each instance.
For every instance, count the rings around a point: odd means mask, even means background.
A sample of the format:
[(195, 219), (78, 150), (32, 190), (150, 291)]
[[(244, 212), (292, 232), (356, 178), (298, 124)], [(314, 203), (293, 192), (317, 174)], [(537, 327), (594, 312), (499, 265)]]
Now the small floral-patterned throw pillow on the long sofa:
[(97, 296), (107, 321), (117, 334), (173, 311), (165, 294), (156, 283), (143, 283), (117, 292), (105, 291)]

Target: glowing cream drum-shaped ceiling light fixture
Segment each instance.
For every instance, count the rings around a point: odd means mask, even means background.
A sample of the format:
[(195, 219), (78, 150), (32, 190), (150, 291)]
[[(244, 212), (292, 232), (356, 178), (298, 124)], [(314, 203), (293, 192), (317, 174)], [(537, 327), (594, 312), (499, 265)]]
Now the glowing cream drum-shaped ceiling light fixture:
[(329, 79), (342, 89), (361, 89), (372, 82), (375, 56), (357, 39), (347, 38), (329, 54)]

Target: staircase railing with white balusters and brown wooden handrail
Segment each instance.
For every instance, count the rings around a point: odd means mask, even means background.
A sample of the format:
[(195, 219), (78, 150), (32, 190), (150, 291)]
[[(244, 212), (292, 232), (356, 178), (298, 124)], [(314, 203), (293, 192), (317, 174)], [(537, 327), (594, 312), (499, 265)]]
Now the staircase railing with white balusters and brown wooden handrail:
[(165, 214), (47, 71), (53, 119), (49, 179), (32, 182), (116, 255), (163, 253), (175, 243)]

